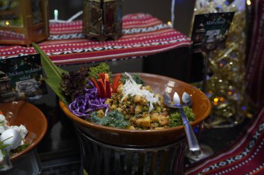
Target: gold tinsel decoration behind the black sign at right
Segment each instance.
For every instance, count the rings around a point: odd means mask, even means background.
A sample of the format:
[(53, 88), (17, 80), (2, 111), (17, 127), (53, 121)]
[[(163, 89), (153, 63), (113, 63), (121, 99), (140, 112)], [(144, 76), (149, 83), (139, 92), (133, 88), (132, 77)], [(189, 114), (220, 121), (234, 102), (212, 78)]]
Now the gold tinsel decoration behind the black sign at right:
[(247, 115), (245, 104), (245, 1), (199, 1), (194, 15), (235, 12), (224, 47), (210, 53), (206, 94), (212, 102), (207, 127), (231, 127)]

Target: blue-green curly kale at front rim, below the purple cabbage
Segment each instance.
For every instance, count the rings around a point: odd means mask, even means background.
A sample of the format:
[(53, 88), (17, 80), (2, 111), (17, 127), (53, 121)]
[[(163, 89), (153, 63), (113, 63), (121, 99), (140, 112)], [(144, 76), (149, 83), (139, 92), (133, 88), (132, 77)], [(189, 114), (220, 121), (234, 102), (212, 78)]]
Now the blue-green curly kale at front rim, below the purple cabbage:
[(105, 117), (97, 117), (97, 112), (92, 112), (90, 120), (98, 125), (104, 125), (108, 127), (126, 128), (130, 126), (130, 122), (127, 121), (122, 113), (119, 111), (110, 111)]

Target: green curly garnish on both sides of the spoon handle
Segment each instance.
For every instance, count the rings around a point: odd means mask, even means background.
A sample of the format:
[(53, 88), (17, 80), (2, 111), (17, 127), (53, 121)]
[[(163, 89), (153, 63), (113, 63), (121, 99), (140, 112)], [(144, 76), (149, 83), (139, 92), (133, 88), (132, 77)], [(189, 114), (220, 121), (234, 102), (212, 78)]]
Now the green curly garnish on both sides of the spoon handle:
[[(192, 122), (195, 120), (195, 113), (193, 113), (190, 107), (183, 107), (183, 111), (185, 113), (185, 116), (188, 118), (189, 122)], [(183, 125), (179, 110), (174, 111), (173, 113), (170, 114), (169, 123), (170, 123), (169, 127), (178, 127), (180, 125)]]

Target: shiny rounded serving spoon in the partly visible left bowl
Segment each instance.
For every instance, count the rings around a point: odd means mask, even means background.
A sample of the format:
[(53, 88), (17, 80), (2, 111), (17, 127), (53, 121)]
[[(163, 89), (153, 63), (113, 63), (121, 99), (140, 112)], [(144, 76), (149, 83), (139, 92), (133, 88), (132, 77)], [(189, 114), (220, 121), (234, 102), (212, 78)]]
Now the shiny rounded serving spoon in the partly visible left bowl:
[(6, 129), (0, 136), (0, 141), (3, 142), (4, 145), (8, 145), (7, 147), (3, 148), (6, 151), (6, 156), (3, 159), (3, 163), (1, 165), (0, 171), (7, 171), (13, 167), (10, 161), (10, 150), (16, 149), (19, 147), (22, 141), (22, 137), (20, 133), (15, 129)]

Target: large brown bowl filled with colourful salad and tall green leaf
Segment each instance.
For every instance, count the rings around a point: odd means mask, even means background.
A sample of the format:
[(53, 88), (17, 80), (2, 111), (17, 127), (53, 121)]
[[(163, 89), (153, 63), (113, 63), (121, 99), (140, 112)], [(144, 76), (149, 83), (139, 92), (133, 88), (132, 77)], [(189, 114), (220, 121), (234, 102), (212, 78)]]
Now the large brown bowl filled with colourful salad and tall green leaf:
[(60, 108), (92, 138), (130, 146), (165, 145), (183, 138), (179, 109), (163, 102), (165, 89), (192, 96), (192, 106), (183, 109), (192, 127), (211, 111), (206, 95), (185, 82), (149, 73), (112, 73), (106, 63), (67, 72), (33, 46), (41, 55), (45, 81), (60, 98)]

